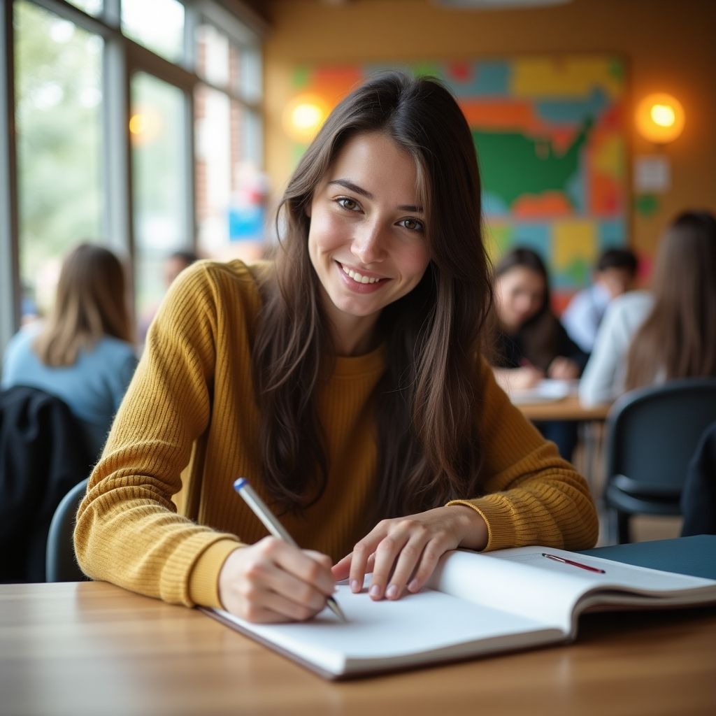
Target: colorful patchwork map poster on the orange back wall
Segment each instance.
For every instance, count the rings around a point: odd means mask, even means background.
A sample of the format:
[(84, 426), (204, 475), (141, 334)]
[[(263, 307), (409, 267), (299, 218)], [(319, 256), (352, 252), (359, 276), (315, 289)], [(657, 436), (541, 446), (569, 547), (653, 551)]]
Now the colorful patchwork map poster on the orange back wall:
[[(604, 248), (627, 242), (624, 66), (605, 55), (524, 55), (473, 62), (303, 66), (295, 100), (330, 110), (369, 74), (438, 77), (458, 98), (478, 153), (493, 258), (528, 246), (548, 263), (561, 308), (589, 283)], [(306, 144), (296, 142), (296, 157)]]

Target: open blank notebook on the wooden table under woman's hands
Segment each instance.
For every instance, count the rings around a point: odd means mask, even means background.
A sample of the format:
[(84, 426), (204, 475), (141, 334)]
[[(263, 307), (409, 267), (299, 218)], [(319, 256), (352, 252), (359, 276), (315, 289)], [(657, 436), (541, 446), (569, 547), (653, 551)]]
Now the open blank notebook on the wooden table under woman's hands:
[(521, 547), (449, 552), (429, 587), (397, 601), (372, 601), (365, 589), (352, 594), (344, 584), (336, 599), (347, 624), (328, 609), (308, 622), (271, 625), (203, 611), (323, 677), (340, 679), (568, 642), (584, 611), (708, 604), (716, 602), (716, 581)]

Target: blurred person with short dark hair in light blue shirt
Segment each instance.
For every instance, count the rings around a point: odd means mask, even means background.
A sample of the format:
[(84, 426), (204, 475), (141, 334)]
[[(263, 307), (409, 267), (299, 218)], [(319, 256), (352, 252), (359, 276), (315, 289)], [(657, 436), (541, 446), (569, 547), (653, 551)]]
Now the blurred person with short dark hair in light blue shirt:
[(584, 352), (591, 353), (594, 348), (609, 301), (632, 288), (637, 266), (637, 256), (628, 248), (607, 249), (599, 256), (591, 286), (579, 291), (569, 302), (561, 317), (562, 324)]

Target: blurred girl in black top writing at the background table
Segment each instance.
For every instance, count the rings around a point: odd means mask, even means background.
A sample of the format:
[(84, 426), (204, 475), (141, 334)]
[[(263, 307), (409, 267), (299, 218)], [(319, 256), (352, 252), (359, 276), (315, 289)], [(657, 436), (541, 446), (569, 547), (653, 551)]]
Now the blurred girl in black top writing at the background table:
[[(549, 277), (529, 248), (513, 248), (494, 271), (495, 354), (493, 372), (503, 390), (534, 387), (543, 378), (579, 378), (587, 355), (569, 337), (550, 306)], [(540, 422), (537, 427), (571, 460), (575, 422)]]

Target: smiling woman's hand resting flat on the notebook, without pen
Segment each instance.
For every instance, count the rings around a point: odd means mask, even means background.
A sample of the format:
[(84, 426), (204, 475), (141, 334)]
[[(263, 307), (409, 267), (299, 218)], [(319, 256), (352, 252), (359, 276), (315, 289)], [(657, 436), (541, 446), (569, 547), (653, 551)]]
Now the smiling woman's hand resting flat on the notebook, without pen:
[(487, 541), (487, 525), (473, 508), (438, 507), (380, 521), (333, 566), (333, 576), (337, 581), (349, 577), (351, 591), (359, 592), (372, 570), (371, 598), (400, 599), (406, 588), (422, 589), (445, 552), (458, 547), (482, 549)]

